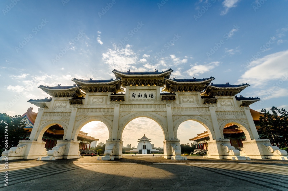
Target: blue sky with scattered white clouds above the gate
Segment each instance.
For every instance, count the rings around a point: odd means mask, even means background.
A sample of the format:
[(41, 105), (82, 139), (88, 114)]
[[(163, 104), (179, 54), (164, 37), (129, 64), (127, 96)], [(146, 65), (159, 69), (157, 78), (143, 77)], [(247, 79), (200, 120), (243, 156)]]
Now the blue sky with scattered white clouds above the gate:
[(115, 78), (114, 68), (247, 82), (240, 95), (262, 99), (252, 109), (288, 108), (287, 0), (5, 0), (0, 8), (1, 113), (37, 112), (27, 101), (48, 96), (40, 84)]

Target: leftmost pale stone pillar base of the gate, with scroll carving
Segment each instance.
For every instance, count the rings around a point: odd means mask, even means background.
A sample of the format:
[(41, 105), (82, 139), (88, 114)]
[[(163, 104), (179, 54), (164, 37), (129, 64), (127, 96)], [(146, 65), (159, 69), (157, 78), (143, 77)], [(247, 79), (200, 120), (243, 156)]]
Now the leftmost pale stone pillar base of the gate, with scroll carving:
[(36, 159), (46, 156), (45, 143), (34, 140), (19, 141), (17, 147), (11, 147), (9, 151), (3, 151), (0, 160), (5, 160), (6, 156), (9, 156), (9, 160)]

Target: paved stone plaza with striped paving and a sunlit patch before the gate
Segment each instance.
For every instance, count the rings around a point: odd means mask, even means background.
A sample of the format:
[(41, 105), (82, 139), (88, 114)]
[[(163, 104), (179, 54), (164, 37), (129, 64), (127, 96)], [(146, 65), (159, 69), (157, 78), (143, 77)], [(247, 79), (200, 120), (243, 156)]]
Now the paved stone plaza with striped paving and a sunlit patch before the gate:
[(288, 190), (288, 162), (157, 156), (9, 161), (9, 187), (0, 190)]

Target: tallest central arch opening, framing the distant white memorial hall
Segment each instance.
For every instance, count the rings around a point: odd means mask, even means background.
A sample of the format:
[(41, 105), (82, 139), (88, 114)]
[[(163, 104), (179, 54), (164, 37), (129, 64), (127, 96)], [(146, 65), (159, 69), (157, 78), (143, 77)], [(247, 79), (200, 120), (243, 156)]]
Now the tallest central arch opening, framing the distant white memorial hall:
[(163, 130), (148, 117), (138, 117), (124, 127), (122, 133), (123, 154), (163, 153)]

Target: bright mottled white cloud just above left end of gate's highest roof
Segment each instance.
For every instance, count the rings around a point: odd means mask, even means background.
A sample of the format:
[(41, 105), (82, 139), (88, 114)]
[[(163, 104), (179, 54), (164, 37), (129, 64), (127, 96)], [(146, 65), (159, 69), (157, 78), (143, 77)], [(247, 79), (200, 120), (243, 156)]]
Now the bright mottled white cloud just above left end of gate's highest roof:
[(135, 63), (138, 60), (138, 55), (130, 48), (130, 45), (126, 45), (125, 48), (118, 48), (116, 44), (113, 44), (113, 49), (108, 49), (106, 53), (102, 54), (104, 63), (108, 64), (109, 69), (116, 69), (126, 71), (131, 69), (135, 71), (137, 68)]

